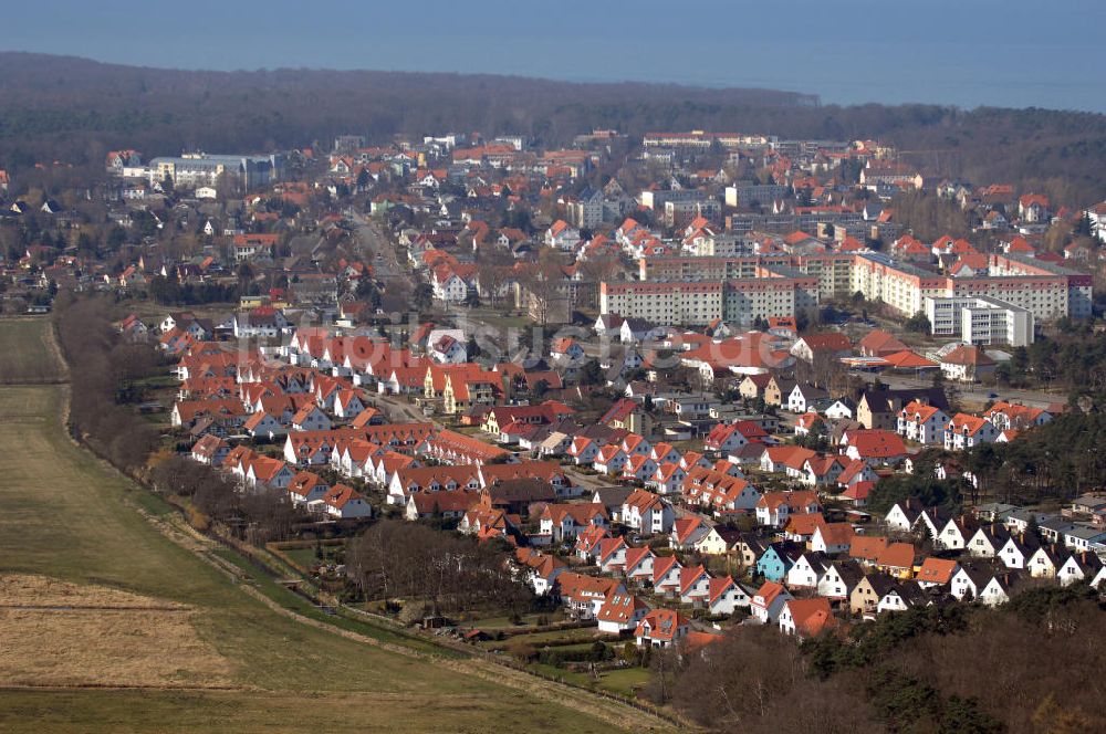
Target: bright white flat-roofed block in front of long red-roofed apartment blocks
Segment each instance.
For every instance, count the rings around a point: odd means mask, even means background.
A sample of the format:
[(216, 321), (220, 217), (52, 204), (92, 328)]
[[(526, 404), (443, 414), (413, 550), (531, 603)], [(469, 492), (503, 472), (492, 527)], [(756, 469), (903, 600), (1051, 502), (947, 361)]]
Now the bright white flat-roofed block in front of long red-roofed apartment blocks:
[(935, 336), (954, 336), (975, 345), (1033, 344), (1033, 313), (985, 295), (926, 298), (926, 317)]

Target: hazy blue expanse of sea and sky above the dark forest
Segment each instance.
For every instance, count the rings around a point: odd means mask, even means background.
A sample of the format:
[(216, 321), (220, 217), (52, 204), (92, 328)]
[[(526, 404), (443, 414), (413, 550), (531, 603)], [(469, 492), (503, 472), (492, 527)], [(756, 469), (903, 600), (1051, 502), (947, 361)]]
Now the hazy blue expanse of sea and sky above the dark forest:
[(1106, 112), (1106, 0), (53, 0), (0, 50), (179, 69), (489, 72)]

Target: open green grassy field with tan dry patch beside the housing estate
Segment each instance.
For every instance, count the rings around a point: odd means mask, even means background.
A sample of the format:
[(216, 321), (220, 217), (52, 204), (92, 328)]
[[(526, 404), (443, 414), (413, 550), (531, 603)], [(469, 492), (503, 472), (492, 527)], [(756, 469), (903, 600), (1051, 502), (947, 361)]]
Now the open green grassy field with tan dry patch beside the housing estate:
[[(49, 322), (31, 323), (42, 354), (52, 354)], [(0, 322), (0, 344), (17, 343), (35, 344), (34, 329)], [(4, 375), (13, 364), (0, 356)], [(460, 661), (343, 639), (247, 596), (143, 516), (175, 522), (156, 497), (65, 437), (66, 389), (0, 387), (9, 457), (0, 475), (0, 651), (9, 651), (0, 653), (0, 731), (611, 727), (467, 674)], [(42, 641), (40, 654), (11, 652), (29, 650), (15, 644), (21, 635)], [(64, 651), (51, 647), (61, 643)], [(109, 688), (124, 684), (134, 688)]]

